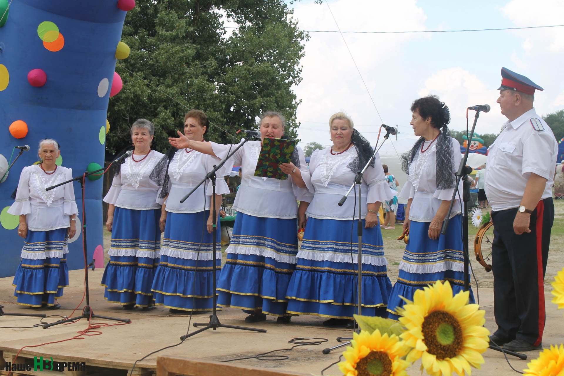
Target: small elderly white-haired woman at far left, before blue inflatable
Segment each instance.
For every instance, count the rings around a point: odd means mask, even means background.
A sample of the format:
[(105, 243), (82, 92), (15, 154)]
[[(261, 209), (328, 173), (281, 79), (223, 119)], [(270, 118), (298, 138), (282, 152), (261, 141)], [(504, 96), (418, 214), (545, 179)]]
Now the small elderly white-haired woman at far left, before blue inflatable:
[(46, 191), (72, 179), (71, 169), (55, 163), (60, 155), (57, 141), (41, 140), (38, 154), (41, 162), (21, 171), (16, 201), (8, 210), (19, 215), (17, 235), (25, 239), (14, 276), (14, 297), (23, 306), (57, 309), (56, 299), (68, 286), (65, 254), (68, 238), (76, 233), (78, 208), (72, 183)]

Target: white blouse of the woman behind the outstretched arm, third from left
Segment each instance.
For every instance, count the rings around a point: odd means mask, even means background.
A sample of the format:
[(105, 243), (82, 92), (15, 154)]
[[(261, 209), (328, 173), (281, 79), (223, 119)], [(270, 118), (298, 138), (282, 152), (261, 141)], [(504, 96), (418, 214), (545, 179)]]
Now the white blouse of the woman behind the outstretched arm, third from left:
[[(190, 197), (182, 204), (180, 200), (186, 196), (198, 183), (205, 178), (206, 174), (213, 170), (213, 166), (221, 162), (220, 158), (202, 154), (195, 150), (186, 153), (186, 149), (179, 149), (169, 164), (169, 196), (166, 199), (166, 211), (171, 213), (199, 213), (210, 209), (212, 187), (211, 181), (200, 185)], [(223, 165), (215, 175), (215, 194), (230, 193), (229, 186), (225, 181), (225, 175), (229, 175), (231, 165)], [(205, 192), (204, 192), (205, 191)], [(162, 198), (157, 202), (162, 204)], [(219, 211), (219, 207), (216, 208)]]

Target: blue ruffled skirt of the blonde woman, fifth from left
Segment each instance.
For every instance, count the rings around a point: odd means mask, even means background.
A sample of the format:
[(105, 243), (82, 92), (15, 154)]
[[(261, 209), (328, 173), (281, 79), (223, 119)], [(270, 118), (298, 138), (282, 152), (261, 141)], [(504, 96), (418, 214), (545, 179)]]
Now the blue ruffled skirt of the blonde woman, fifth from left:
[[(286, 293), (288, 313), (336, 319), (358, 313), (358, 242), (351, 243), (357, 222), (308, 219)], [(391, 282), (380, 227), (363, 228), (362, 243), (362, 315), (386, 316)]]

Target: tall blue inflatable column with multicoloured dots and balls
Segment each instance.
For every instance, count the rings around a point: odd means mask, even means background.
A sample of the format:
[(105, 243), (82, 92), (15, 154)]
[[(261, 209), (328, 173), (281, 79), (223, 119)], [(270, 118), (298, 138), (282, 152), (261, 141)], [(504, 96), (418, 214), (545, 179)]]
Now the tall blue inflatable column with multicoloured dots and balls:
[[(129, 55), (120, 42), (135, 0), (0, 0), (0, 277), (13, 276), (23, 240), (19, 219), (7, 213), (21, 170), (38, 161), (38, 144), (58, 141), (56, 164), (73, 176), (104, 165), (108, 102), (121, 89), (116, 59)], [(15, 160), (16, 146), (29, 145)], [(7, 166), (14, 162), (10, 170)], [(102, 179), (73, 184), (77, 229), (87, 214), (88, 262), (103, 261)], [(69, 240), (69, 269), (84, 266), (82, 235)]]

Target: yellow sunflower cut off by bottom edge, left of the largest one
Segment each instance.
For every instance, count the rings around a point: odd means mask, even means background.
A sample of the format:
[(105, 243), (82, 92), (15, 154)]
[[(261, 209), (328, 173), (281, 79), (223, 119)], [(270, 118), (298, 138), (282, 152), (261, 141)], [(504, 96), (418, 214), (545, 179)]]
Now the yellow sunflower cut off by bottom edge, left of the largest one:
[(407, 376), (409, 362), (402, 359), (409, 350), (395, 334), (380, 330), (352, 334), (351, 345), (343, 352), (339, 369), (346, 376)]

